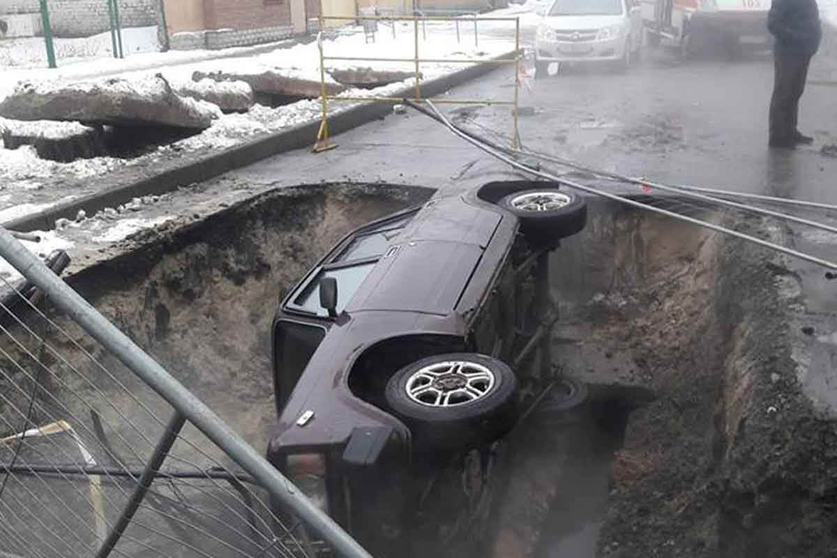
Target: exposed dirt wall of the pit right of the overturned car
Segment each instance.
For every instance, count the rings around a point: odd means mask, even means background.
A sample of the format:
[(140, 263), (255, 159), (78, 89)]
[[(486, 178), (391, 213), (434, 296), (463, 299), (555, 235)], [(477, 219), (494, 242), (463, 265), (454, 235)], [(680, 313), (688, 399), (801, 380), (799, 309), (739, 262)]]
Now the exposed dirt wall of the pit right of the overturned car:
[[(775, 223), (734, 218), (788, 240)], [(837, 428), (798, 385), (809, 366), (793, 351), (800, 289), (781, 257), (593, 202), (552, 272), (563, 311), (553, 356), (604, 402), (638, 407), (615, 456), (598, 555), (837, 549)], [(644, 403), (648, 391), (655, 400)]]

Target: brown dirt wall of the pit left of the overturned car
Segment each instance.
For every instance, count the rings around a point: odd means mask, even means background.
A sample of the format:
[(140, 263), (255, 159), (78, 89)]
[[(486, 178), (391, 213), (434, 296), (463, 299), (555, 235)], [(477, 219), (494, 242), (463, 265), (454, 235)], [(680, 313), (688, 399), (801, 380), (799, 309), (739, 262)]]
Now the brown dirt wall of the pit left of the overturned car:
[[(426, 188), (385, 185), (284, 188), (174, 231), (162, 228), (135, 235), (126, 253), (84, 269), (69, 283), (261, 450), (275, 421), (270, 325), (280, 300), (343, 235), (374, 218), (423, 202), (431, 193)], [(49, 315), (128, 387), (130, 396), (97, 372), (69, 339), (49, 330), (45, 339), (50, 346), (95, 378), (95, 387), (110, 402), (133, 412), (137, 404), (132, 397), (138, 397), (151, 411), (167, 417), (170, 407), (160, 397), (105, 355), (74, 323), (52, 309)], [(26, 321), (34, 320), (29, 316)], [(37, 332), (38, 327), (33, 328)], [(24, 345), (39, 346), (21, 328), (11, 332)], [(0, 339), (0, 347), (8, 356), (26, 361), (22, 349), (8, 337)], [(54, 363), (57, 359), (47, 352), (47, 360)], [(8, 358), (3, 364), (17, 383), (28, 385), (23, 371), (14, 373)], [(86, 419), (84, 406), (70, 393), (77, 392), (99, 403), (103, 417), (121, 428), (128, 442), (135, 439), (93, 387), (61, 362), (57, 368), (68, 385), (50, 380), (51, 391), (69, 410)], [(27, 392), (14, 390), (9, 378), (5, 380), (3, 392), (25, 408)], [(67, 414), (66, 409), (51, 408), (55, 415)], [(44, 413), (35, 414), (35, 422), (46, 420), (39, 417)], [(13, 418), (13, 424), (20, 422)], [(150, 432), (159, 431), (145, 413), (137, 410), (135, 418)], [(118, 438), (113, 441), (117, 447)]]

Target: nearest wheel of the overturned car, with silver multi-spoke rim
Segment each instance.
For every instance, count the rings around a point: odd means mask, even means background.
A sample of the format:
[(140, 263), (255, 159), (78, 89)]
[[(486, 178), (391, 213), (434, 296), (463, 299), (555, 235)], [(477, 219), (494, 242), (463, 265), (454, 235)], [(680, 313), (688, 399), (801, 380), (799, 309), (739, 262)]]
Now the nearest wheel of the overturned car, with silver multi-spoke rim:
[(412, 430), (419, 451), (445, 451), (474, 448), (508, 433), (517, 419), (516, 387), (504, 362), (451, 353), (404, 366), (384, 395)]

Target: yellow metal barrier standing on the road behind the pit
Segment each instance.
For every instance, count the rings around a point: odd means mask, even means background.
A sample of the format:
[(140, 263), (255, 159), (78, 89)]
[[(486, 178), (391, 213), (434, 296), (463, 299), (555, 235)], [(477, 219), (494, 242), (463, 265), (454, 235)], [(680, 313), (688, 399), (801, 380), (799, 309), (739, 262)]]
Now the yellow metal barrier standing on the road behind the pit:
[[(520, 133), (517, 128), (517, 112), (518, 102), (520, 100), (520, 63), (521, 63), (521, 48), (520, 48), (520, 32), (521, 23), (520, 18), (477, 18), (480, 22), (514, 22), (515, 23), (515, 49), (513, 58), (499, 58), (490, 60), (474, 60), (474, 59), (423, 59), (419, 57), (419, 22), (423, 24), (428, 21), (454, 21), (458, 22), (461, 18), (443, 17), (443, 16), (377, 16), (377, 15), (357, 15), (357, 16), (320, 16), (320, 33), (317, 35), (317, 48), (320, 50), (320, 99), (322, 108), (322, 118), (320, 122), (320, 131), (317, 132), (316, 143), (314, 144), (314, 151), (326, 151), (336, 147), (335, 144), (329, 141), (328, 137), (328, 101), (329, 100), (350, 100), (350, 101), (384, 101), (390, 103), (398, 103), (401, 99), (399, 97), (386, 97), (377, 95), (327, 95), (326, 94), (326, 60), (351, 60), (354, 62), (412, 62), (415, 64), (415, 95), (413, 101), (424, 102), (421, 92), (421, 64), (514, 64), (515, 67), (515, 96), (514, 100), (486, 100), (486, 99), (434, 99), (434, 103), (446, 103), (449, 105), (511, 105), (512, 115), (514, 116), (514, 134), (512, 135), (512, 147), (518, 148), (520, 146)], [(469, 21), (475, 18), (468, 18)], [(326, 56), (322, 42), (322, 29), (325, 28), (326, 20), (344, 20), (344, 21), (358, 21), (358, 20), (377, 20), (377, 21), (392, 21), (393, 33), (394, 25), (397, 21), (412, 21), (413, 22), (413, 38), (414, 49), (413, 58), (373, 58), (373, 57), (352, 57), (352, 56)], [(476, 23), (475, 31), (476, 34)]]

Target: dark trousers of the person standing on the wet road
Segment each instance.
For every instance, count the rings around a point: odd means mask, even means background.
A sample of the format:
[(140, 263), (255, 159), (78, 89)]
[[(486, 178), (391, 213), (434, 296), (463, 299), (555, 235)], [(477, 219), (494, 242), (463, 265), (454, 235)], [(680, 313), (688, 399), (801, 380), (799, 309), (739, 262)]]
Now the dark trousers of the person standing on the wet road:
[(796, 136), (799, 98), (805, 90), (811, 57), (806, 54), (773, 54), (776, 74), (770, 100), (770, 141), (790, 142)]

